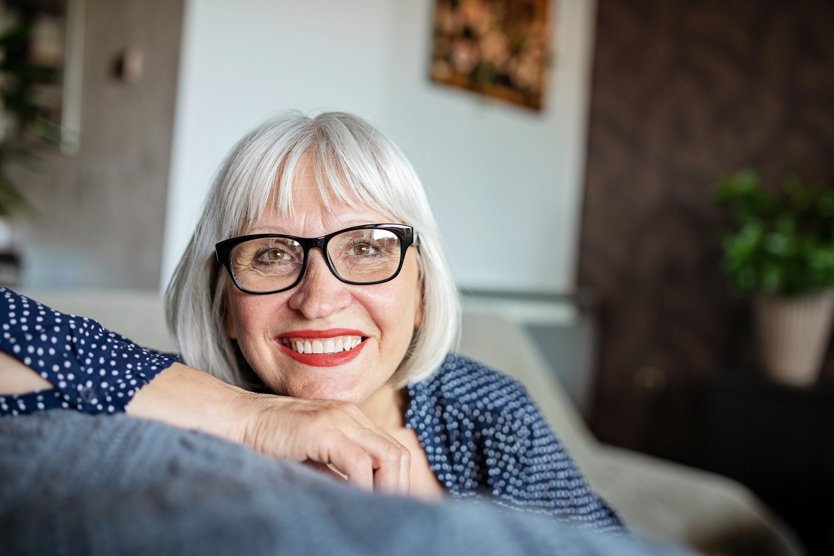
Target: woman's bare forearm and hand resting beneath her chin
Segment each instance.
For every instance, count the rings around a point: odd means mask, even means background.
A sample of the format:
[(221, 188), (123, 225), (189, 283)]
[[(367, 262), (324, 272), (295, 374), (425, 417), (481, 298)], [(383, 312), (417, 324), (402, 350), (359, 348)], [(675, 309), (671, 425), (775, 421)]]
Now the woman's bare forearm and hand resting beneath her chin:
[(139, 390), (127, 411), (279, 458), (330, 464), (365, 490), (409, 493), (408, 449), (353, 403), (251, 393), (174, 363)]

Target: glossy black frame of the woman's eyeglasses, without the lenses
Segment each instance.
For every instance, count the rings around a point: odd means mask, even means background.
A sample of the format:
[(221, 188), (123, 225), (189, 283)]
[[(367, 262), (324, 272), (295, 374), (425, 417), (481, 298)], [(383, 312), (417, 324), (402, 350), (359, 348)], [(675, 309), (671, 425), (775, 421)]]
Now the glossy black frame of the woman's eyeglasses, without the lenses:
[[(330, 260), (330, 255), (327, 252), (327, 245), (332, 238), (335, 238), (340, 233), (366, 229), (383, 229), (387, 232), (394, 233), (394, 235), (397, 236), (397, 238), (399, 239), (399, 266), (397, 267), (397, 271), (390, 278), (385, 278), (384, 280), (377, 280), (376, 282), (352, 282), (350, 280), (342, 278), (341, 276), (339, 276), (339, 273), (336, 272), (334, 263)], [(224, 268), (226, 268), (227, 272), (229, 272), (229, 276), (232, 278), (234, 286), (238, 288), (241, 292), (249, 293), (251, 295), (269, 295), (271, 293), (281, 293), (298, 286), (301, 280), (304, 278), (304, 274), (307, 273), (307, 263), (309, 261), (310, 249), (314, 248), (321, 249), (321, 253), (324, 256), (324, 261), (327, 263), (327, 267), (330, 269), (330, 273), (332, 273), (336, 277), (336, 279), (339, 280), (339, 282), (347, 283), (352, 286), (373, 286), (374, 284), (378, 283), (390, 282), (391, 280), (399, 276), (399, 271), (403, 269), (405, 253), (408, 252), (409, 247), (411, 247), (412, 245), (414, 245), (414, 247), (417, 247), (416, 236), (417, 234), (414, 232), (414, 228), (412, 226), (406, 226), (405, 224), (366, 224), (364, 226), (353, 226), (351, 228), (344, 228), (344, 230), (339, 230), (334, 233), (328, 233), (324, 236), (319, 236), (318, 238), (299, 238), (298, 236), (290, 236), (284, 233), (254, 233), (251, 235), (238, 236), (237, 238), (224, 239), (222, 242), (216, 243), (214, 245), (214, 255), (217, 258), (217, 262), (223, 265)], [(304, 249), (304, 261), (301, 263), (301, 272), (299, 272), (299, 278), (297, 278), (291, 286), (288, 286), (287, 288), (276, 289), (271, 292), (254, 292), (252, 290), (244, 288), (238, 282), (238, 278), (234, 275), (234, 269), (232, 268), (232, 251), (241, 243), (246, 243), (253, 239), (263, 238), (292, 239), (295, 242), (298, 242), (299, 245), (301, 245), (301, 248)]]

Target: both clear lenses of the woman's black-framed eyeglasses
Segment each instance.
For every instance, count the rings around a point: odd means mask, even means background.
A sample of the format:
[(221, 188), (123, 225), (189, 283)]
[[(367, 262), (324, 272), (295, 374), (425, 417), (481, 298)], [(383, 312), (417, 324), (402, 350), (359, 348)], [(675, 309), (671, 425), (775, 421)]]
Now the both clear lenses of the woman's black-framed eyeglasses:
[[(327, 244), (335, 273), (353, 283), (381, 282), (394, 276), (400, 250), (399, 237), (378, 228), (339, 233)], [(234, 278), (250, 292), (289, 288), (303, 266), (304, 248), (291, 238), (250, 239), (232, 251)]]

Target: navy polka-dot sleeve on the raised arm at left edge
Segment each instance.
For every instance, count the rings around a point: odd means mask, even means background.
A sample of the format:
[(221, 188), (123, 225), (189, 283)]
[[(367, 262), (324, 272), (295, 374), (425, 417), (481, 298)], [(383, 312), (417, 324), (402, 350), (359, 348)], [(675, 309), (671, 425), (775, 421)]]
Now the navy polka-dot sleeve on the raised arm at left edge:
[(0, 416), (50, 408), (119, 413), (178, 358), (140, 348), (96, 321), (59, 313), (0, 288), (0, 351), (33, 368), (55, 388), (0, 396)]

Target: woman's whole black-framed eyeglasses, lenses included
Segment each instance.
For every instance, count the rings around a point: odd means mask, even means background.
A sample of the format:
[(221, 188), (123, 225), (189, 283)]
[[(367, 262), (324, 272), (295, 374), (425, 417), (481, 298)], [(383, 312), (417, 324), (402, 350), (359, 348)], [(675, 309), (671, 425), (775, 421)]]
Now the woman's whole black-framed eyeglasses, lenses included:
[(354, 226), (320, 238), (257, 233), (214, 246), (217, 260), (244, 293), (265, 294), (294, 288), (307, 270), (310, 249), (319, 248), (330, 272), (344, 283), (389, 282), (403, 268), (414, 243), (414, 228), (402, 224)]

